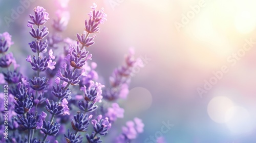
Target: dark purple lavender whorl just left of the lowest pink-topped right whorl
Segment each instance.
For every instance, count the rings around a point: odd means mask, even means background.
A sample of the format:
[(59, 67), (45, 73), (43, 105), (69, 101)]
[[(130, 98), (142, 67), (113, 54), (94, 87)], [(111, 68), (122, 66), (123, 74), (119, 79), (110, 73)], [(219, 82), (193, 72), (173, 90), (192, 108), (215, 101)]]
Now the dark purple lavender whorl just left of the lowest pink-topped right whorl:
[(74, 120), (71, 121), (72, 128), (75, 131), (86, 132), (89, 126), (89, 120), (92, 118), (92, 115), (88, 116), (87, 114), (83, 114), (78, 112), (78, 114), (74, 115)]

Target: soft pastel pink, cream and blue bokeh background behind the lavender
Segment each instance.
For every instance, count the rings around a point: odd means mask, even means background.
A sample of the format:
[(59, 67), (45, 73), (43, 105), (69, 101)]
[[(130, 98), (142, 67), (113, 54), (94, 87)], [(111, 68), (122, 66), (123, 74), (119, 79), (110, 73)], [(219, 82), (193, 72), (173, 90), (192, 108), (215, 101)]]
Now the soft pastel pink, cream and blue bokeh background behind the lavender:
[[(93, 3), (108, 14), (89, 48), (101, 78), (108, 80), (130, 47), (137, 57), (148, 58), (121, 101), (124, 119), (114, 126), (141, 118), (144, 132), (133, 142), (155, 142), (147, 138), (161, 134), (166, 142), (256, 142), (256, 1), (71, 1), (63, 37), (76, 39), (83, 32)], [(13, 19), (19, 6), (0, 1), (0, 33), (12, 35), (11, 51), (26, 72), (29, 14), (44, 7), (50, 27), (57, 8), (50, 0), (31, 0)], [(163, 133), (164, 123), (174, 126)]]

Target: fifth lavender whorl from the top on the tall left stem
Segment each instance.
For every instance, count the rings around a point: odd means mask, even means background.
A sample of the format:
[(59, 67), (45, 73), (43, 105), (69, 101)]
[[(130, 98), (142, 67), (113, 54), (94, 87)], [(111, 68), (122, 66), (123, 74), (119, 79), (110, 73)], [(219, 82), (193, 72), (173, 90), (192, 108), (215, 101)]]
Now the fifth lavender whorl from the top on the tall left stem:
[(29, 81), (31, 82), (30, 87), (36, 91), (45, 90), (48, 87), (48, 79), (46, 77), (34, 77), (34, 80), (29, 79)]

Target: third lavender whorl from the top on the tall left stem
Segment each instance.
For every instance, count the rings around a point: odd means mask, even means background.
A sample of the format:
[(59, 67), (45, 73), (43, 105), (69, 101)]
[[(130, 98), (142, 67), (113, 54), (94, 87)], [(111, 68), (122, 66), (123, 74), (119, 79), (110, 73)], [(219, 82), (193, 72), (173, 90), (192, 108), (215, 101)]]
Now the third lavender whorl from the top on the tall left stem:
[(30, 42), (29, 46), (34, 53), (46, 53), (48, 44), (47, 44), (47, 40), (45, 41), (35, 40)]

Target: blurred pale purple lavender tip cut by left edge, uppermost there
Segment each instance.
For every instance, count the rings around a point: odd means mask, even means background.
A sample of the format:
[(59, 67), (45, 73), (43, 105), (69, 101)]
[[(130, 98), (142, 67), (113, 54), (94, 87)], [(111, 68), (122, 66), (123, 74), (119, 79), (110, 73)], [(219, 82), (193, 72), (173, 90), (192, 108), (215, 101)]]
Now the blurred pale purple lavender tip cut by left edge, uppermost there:
[(13, 44), (11, 37), (8, 32), (0, 33), (0, 53), (7, 52), (9, 47)]

